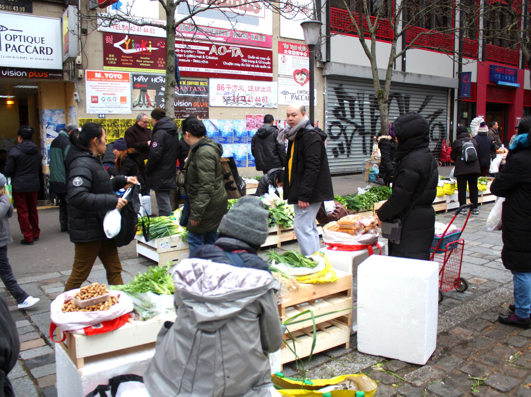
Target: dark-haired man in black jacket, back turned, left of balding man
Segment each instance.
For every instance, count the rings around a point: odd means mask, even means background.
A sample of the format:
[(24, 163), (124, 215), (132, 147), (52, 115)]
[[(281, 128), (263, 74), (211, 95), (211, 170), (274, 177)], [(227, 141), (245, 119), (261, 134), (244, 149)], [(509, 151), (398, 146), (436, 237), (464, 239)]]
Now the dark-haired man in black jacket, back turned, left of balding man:
[(271, 115), (264, 116), (264, 124), (251, 139), (251, 153), (254, 157), (256, 170), (265, 174), (270, 169), (282, 168), (286, 162), (286, 148), (278, 142), (278, 128), (273, 125), (275, 119)]

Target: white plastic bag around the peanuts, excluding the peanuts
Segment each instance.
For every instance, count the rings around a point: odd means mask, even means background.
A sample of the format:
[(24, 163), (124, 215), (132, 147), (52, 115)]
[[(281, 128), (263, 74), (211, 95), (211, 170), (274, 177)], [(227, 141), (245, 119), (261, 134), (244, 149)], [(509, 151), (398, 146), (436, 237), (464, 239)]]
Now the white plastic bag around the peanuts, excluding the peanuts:
[(63, 313), (63, 304), (79, 292), (79, 288), (63, 292), (55, 298), (50, 305), (50, 319), (61, 331), (81, 330), (89, 325), (95, 325), (102, 321), (114, 320), (133, 311), (131, 298), (121, 291), (110, 291), (109, 294), (118, 297), (118, 303), (108, 310), (97, 312), (66, 312)]

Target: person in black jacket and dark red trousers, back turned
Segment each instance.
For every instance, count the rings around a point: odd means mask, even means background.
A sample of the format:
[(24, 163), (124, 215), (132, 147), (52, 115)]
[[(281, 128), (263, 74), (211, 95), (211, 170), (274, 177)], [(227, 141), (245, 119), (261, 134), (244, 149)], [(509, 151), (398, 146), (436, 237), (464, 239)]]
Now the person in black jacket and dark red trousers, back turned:
[(4, 175), (11, 177), (13, 202), (18, 215), (24, 245), (33, 245), (40, 235), (37, 194), (40, 190), (40, 162), (42, 153), (31, 141), (32, 127), (23, 125), (17, 132), (18, 144), (7, 153)]

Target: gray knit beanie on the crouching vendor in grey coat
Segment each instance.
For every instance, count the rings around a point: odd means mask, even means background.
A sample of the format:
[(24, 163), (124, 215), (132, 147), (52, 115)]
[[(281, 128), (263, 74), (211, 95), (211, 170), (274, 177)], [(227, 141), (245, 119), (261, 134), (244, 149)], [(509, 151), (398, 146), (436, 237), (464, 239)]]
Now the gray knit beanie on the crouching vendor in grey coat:
[(260, 246), (268, 235), (268, 212), (258, 197), (243, 196), (221, 219), (219, 234)]

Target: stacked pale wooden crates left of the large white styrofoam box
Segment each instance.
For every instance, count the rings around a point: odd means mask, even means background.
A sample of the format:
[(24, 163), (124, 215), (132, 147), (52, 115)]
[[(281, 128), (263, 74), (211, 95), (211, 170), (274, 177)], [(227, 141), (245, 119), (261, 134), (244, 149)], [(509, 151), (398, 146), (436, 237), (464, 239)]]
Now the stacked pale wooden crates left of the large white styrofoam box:
[[(321, 284), (298, 284), (298, 289), (290, 291), (289, 296), (282, 299), (279, 305), (281, 321), (305, 310), (312, 310), (315, 318), (316, 343), (313, 353), (328, 350), (342, 344), (349, 348), (350, 344), (350, 314), (352, 312), (352, 276), (346, 272), (337, 271), (338, 281)], [(328, 314), (327, 314), (328, 313)], [(299, 317), (300, 320), (307, 315)], [(284, 346), (280, 350), (281, 364), (289, 363), (297, 358), (310, 355), (313, 343), (313, 321), (309, 320), (288, 325), (292, 339), (286, 333), (286, 344), (295, 350), (295, 354)], [(295, 348), (294, 348), (295, 342)]]

